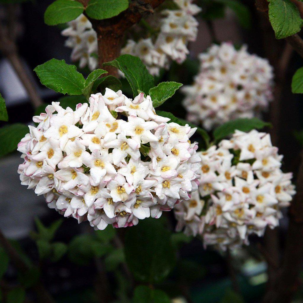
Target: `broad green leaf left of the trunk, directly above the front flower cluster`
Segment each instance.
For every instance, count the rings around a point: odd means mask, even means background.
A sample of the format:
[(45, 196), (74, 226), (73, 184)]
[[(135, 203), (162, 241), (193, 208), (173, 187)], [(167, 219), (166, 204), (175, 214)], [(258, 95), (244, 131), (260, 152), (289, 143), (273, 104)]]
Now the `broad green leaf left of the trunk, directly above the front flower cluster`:
[(55, 92), (82, 95), (85, 80), (83, 75), (77, 72), (75, 65), (66, 64), (64, 60), (51, 59), (38, 65), (34, 71), (40, 82)]

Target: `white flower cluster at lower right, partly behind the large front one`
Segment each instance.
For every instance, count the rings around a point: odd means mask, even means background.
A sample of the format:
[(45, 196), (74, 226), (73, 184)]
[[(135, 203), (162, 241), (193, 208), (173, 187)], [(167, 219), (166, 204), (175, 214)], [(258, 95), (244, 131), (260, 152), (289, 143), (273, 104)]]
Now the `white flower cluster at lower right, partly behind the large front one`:
[(200, 156), (199, 190), (175, 206), (177, 230), (185, 227), (186, 234), (200, 235), (205, 247), (225, 250), (278, 226), (295, 187), (292, 173), (280, 169), (283, 156), (269, 134), (236, 131)]

